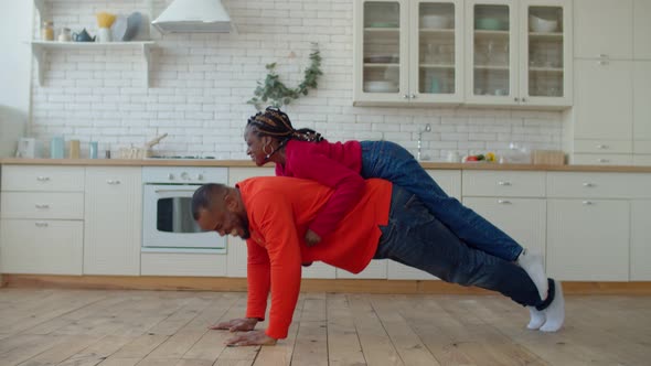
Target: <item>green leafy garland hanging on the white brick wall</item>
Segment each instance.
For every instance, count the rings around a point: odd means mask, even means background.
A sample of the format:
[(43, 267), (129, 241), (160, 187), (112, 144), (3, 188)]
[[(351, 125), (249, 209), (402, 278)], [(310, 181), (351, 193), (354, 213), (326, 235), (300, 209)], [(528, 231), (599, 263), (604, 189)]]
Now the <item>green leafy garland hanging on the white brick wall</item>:
[(321, 54), (313, 43), (313, 51), (310, 53), (310, 66), (303, 73), (303, 80), (296, 87), (289, 88), (276, 73), (276, 63), (267, 64), (265, 67), (269, 71), (267, 77), (263, 82), (257, 82), (258, 86), (254, 90), (255, 97), (248, 100), (248, 104), (254, 105), (258, 110), (262, 109), (263, 104), (274, 107), (281, 107), (298, 99), (301, 95), (308, 95), (309, 89), (316, 89), (321, 72)]

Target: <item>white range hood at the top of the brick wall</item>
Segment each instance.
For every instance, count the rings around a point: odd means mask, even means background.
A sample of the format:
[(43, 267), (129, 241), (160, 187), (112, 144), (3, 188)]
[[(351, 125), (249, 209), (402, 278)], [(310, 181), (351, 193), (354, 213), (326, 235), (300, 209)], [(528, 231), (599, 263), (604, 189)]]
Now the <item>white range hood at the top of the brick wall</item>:
[(231, 17), (220, 0), (173, 0), (151, 22), (161, 33), (228, 33)]

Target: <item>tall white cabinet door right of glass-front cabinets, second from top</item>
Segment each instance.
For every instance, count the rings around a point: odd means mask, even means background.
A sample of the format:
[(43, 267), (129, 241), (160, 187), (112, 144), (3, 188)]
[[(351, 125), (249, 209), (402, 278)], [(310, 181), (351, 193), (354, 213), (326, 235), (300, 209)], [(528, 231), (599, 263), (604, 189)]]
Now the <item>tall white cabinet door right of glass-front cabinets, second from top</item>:
[(575, 60), (576, 140), (632, 140), (632, 66), (630, 61)]

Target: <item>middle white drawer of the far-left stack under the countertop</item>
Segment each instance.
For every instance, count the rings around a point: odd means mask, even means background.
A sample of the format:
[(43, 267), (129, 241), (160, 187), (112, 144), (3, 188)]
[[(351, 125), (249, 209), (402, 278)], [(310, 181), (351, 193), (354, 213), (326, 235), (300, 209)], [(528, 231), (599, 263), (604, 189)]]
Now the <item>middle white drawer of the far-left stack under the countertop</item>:
[(84, 218), (83, 193), (2, 192), (0, 197), (3, 218)]

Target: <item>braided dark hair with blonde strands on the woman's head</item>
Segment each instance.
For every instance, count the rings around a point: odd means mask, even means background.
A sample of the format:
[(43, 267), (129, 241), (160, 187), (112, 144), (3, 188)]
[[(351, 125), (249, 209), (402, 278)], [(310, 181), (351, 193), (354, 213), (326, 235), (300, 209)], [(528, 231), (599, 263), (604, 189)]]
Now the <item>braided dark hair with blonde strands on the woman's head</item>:
[(279, 139), (284, 146), (289, 140), (307, 142), (320, 142), (323, 140), (321, 133), (309, 128), (294, 129), (289, 116), (279, 108), (267, 107), (265, 111), (258, 111), (248, 118), (246, 127), (255, 128), (258, 136), (270, 136)]

